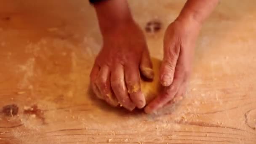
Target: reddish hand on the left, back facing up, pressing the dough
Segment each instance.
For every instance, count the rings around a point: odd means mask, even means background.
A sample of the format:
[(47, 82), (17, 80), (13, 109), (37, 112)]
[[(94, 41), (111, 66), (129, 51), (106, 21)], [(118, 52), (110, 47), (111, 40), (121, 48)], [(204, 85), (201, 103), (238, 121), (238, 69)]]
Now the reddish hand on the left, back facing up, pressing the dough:
[(148, 79), (154, 74), (143, 32), (130, 21), (112, 27), (102, 35), (103, 48), (90, 76), (94, 93), (112, 106), (120, 103), (130, 111), (144, 107), (140, 72)]

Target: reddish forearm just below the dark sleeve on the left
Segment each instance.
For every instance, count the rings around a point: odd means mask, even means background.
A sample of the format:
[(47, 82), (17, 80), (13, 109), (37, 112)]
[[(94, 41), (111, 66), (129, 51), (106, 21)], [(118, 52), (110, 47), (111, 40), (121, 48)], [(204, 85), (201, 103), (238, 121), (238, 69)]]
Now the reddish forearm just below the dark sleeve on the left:
[(103, 34), (119, 24), (133, 21), (126, 0), (105, 0), (94, 7)]

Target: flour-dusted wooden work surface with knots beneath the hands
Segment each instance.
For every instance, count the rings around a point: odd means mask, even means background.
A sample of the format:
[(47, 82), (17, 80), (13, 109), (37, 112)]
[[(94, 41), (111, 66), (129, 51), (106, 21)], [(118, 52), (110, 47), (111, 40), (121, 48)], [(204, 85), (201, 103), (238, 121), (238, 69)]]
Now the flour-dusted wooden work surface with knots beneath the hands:
[[(129, 0), (162, 58), (184, 0)], [(101, 35), (87, 0), (0, 0), (0, 144), (256, 144), (256, 1), (223, 0), (204, 24), (187, 94), (157, 115), (89, 90)], [(7, 116), (6, 105), (19, 107)], [(6, 108), (6, 107), (5, 107)]]

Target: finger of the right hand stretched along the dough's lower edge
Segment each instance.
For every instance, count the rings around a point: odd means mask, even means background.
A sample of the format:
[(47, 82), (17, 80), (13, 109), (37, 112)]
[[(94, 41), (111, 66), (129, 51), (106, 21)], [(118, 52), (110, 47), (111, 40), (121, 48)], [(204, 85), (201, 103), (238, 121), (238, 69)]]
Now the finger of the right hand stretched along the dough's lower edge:
[(180, 77), (174, 79), (173, 83), (170, 86), (165, 87), (163, 93), (161, 93), (159, 96), (157, 96), (157, 98), (150, 102), (149, 105), (144, 109), (144, 111), (146, 113), (155, 112), (157, 109), (163, 107), (165, 104), (171, 101), (179, 91), (182, 82), (183, 79)]

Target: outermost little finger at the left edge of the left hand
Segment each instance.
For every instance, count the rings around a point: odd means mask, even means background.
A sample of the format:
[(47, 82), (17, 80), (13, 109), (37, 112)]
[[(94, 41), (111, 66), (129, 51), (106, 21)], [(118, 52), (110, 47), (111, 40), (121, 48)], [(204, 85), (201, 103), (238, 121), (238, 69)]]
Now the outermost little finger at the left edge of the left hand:
[(90, 74), (90, 79), (91, 79), (91, 88), (93, 90), (93, 93), (99, 98), (99, 99), (104, 99), (103, 96), (101, 96), (101, 93), (99, 91), (99, 89), (97, 88), (97, 86), (95, 85), (95, 80), (98, 77), (99, 74), (99, 66), (97, 66), (96, 64), (94, 64), (92, 70), (91, 70), (91, 74)]

